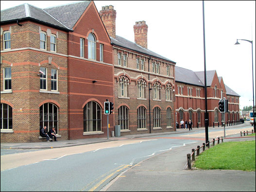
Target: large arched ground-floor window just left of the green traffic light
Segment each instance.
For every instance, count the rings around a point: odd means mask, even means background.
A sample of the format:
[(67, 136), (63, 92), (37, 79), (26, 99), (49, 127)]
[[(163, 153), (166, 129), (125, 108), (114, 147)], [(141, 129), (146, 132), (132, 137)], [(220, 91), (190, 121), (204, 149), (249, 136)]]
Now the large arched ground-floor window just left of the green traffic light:
[(102, 130), (102, 108), (95, 101), (89, 101), (84, 107), (84, 132)]

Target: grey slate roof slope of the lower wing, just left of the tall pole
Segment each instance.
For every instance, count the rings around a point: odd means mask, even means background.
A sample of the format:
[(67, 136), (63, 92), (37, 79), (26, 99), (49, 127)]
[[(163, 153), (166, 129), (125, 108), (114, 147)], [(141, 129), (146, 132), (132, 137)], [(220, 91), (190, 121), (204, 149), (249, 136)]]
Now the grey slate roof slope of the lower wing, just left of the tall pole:
[(178, 66), (175, 66), (175, 81), (204, 86), (204, 83), (197, 77), (194, 71)]

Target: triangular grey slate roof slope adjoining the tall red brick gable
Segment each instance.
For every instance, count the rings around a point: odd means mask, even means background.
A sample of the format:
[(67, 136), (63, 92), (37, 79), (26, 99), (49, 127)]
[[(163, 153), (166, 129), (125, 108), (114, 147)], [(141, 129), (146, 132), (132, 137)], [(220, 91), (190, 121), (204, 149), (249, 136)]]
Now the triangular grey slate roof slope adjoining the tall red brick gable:
[(43, 10), (72, 30), (90, 2), (91, 0), (85, 0), (66, 5), (49, 7)]

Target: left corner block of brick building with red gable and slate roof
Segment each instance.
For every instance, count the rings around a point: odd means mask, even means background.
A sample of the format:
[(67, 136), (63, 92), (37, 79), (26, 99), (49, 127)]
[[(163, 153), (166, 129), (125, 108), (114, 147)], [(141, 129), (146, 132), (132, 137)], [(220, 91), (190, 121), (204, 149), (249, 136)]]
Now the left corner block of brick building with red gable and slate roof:
[[(1, 142), (107, 135), (112, 46), (93, 1), (1, 11)], [(113, 117), (109, 123), (113, 125)]]

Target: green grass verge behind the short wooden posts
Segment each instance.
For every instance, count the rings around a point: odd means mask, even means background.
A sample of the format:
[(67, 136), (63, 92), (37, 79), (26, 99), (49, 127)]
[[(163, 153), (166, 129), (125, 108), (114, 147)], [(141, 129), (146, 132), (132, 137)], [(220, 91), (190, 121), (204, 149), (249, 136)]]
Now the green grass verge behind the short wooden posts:
[(201, 153), (193, 168), (255, 171), (255, 159), (255, 141), (227, 142)]

